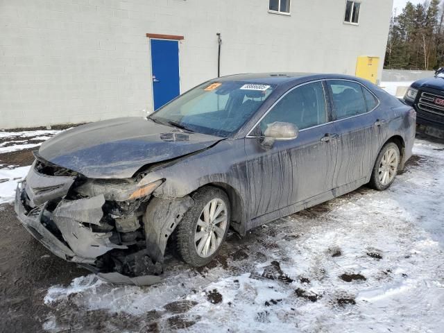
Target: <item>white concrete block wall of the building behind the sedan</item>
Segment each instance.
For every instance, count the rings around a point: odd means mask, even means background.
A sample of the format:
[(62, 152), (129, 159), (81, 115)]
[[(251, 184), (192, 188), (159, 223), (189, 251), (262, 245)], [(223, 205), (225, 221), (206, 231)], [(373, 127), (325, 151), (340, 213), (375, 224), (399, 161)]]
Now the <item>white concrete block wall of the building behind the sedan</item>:
[[(142, 115), (153, 108), (146, 33), (184, 35), (181, 92), (221, 74), (355, 74), (357, 56), (384, 58), (390, 0), (0, 0), (0, 128)], [(379, 73), (382, 71), (379, 69)]]

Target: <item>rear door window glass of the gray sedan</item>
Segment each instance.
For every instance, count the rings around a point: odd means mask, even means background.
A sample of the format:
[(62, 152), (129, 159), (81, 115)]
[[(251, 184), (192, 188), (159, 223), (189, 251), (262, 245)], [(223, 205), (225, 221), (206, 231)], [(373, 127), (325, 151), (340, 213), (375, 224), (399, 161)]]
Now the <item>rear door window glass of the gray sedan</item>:
[(359, 83), (345, 80), (328, 80), (327, 84), (332, 92), (336, 119), (344, 119), (368, 112), (364, 92)]

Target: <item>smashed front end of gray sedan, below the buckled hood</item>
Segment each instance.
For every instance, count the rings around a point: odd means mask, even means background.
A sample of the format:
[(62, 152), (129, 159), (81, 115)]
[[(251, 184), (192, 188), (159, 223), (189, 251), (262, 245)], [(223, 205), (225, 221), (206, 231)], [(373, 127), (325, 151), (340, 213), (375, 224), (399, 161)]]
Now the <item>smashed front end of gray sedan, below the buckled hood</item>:
[(193, 200), (156, 198), (163, 180), (91, 179), (38, 154), (17, 188), (15, 210), (46, 248), (114, 283), (153, 284), (167, 241)]

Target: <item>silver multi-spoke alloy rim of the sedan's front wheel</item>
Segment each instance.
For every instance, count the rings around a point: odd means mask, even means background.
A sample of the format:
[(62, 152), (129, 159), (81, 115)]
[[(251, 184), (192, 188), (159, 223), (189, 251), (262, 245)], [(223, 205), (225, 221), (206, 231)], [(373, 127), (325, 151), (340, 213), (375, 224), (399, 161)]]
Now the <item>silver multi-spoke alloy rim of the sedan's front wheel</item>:
[(194, 231), (194, 246), (199, 257), (210, 257), (221, 246), (227, 228), (227, 206), (214, 198), (204, 207)]

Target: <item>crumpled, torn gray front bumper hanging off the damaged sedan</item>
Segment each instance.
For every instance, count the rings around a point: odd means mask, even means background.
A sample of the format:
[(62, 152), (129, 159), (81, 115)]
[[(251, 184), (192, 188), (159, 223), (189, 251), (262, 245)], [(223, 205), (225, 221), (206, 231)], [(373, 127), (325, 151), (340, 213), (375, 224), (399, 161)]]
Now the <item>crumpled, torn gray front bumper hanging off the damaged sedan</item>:
[[(94, 232), (90, 225), (101, 226), (103, 195), (78, 200), (60, 200), (53, 211), (43, 203), (26, 210), (24, 201), (28, 186), (18, 185), (15, 212), (26, 230), (46, 248), (68, 262), (94, 265), (96, 259), (110, 250), (125, 250), (128, 246), (112, 243), (112, 232)], [(85, 224), (86, 223), (86, 224)]]

